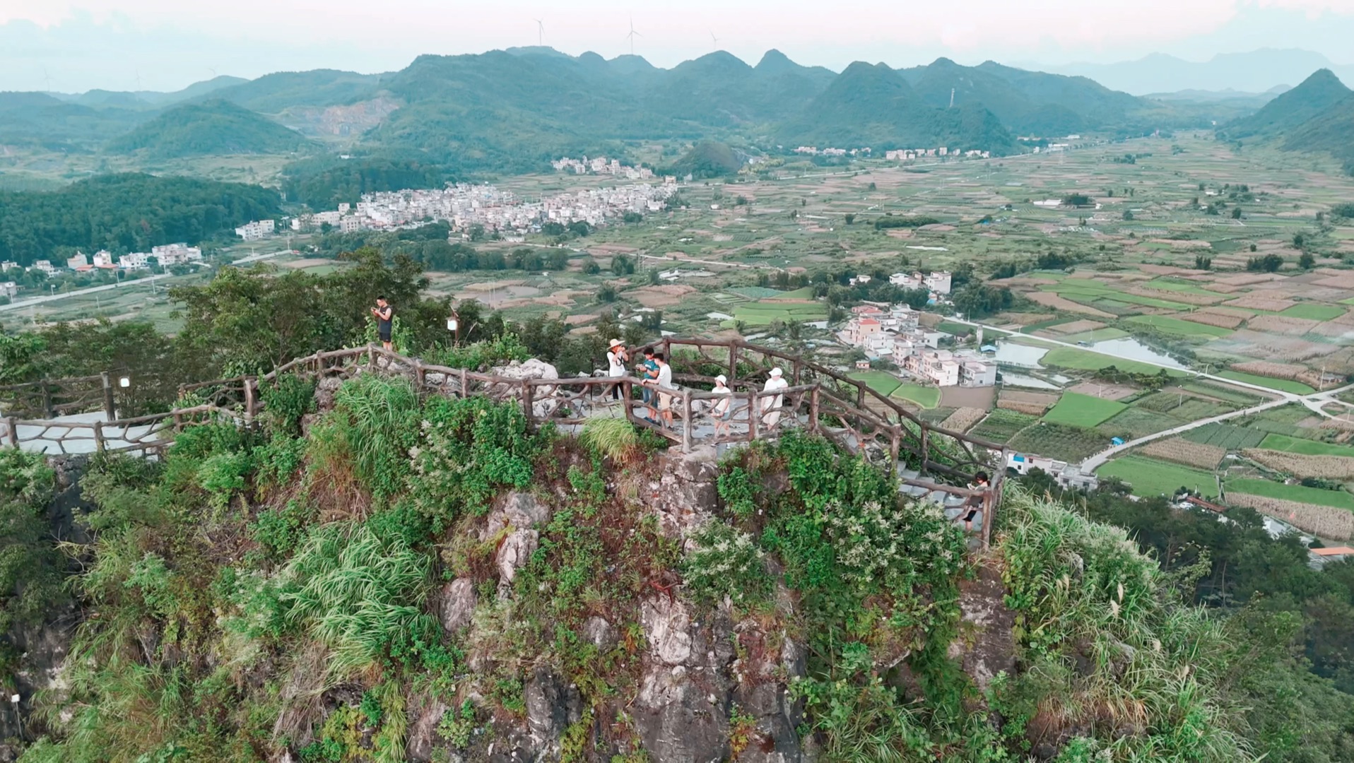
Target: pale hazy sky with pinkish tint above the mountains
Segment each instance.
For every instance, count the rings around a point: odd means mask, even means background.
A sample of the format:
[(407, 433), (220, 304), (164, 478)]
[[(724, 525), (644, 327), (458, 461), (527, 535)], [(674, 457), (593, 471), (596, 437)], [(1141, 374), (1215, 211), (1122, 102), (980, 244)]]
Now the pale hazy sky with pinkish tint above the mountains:
[[(0, 0), (0, 89), (177, 89), (215, 74), (387, 72), (421, 53), (546, 45), (672, 66), (720, 47), (756, 62), (894, 66), (1110, 62), (1152, 51), (1204, 61), (1304, 47), (1354, 64), (1354, 0)], [(715, 42), (712, 38), (718, 38)]]

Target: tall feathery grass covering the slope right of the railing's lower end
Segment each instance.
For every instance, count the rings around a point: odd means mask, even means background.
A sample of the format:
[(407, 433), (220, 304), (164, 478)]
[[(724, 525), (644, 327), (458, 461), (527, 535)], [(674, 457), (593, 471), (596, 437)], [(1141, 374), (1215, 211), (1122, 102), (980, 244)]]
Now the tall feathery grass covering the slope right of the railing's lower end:
[(1118, 528), (1011, 487), (998, 552), (1017, 652), (997, 709), (1032, 737), (1072, 733), (1105, 760), (1250, 760), (1223, 706), (1227, 634), (1179, 603), (1155, 560)]

